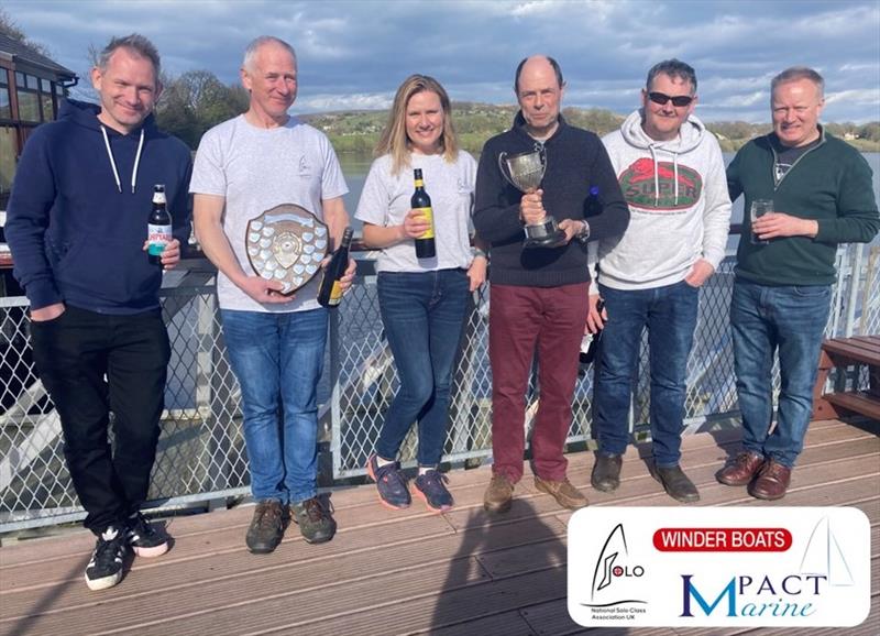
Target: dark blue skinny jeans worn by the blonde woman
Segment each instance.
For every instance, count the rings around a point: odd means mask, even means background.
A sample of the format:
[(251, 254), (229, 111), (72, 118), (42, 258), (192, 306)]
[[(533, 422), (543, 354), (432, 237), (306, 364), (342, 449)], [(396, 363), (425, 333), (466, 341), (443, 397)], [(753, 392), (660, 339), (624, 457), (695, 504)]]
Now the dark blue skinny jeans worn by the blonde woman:
[(463, 270), (380, 272), (378, 306), (400, 380), (376, 442), (381, 458), (397, 459), (418, 420), (419, 465), (440, 462), (469, 284)]

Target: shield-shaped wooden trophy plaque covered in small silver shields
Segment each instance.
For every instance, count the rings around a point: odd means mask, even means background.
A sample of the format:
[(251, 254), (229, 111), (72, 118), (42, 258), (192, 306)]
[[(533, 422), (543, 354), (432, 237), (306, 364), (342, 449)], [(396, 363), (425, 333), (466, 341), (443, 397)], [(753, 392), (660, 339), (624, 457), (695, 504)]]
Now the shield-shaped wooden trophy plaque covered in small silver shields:
[(293, 294), (321, 270), (327, 226), (305, 208), (285, 204), (248, 221), (248, 260), (257, 276), (278, 281)]

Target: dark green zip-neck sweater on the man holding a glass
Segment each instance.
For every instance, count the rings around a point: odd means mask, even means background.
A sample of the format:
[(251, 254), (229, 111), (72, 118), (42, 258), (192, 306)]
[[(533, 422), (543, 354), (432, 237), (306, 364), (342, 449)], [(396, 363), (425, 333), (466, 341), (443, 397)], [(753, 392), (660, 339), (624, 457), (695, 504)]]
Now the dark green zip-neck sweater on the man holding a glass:
[[(772, 134), (772, 133), (771, 133)], [(773, 185), (776, 152), (770, 135), (744, 145), (727, 167), (730, 200), (745, 194), (746, 215), (736, 275), (761, 285), (831, 285), (838, 243), (870, 242), (880, 229), (871, 168), (861, 154), (820, 127), (820, 143), (800, 156)], [(773, 209), (818, 221), (818, 233), (749, 241), (752, 199), (773, 199)]]

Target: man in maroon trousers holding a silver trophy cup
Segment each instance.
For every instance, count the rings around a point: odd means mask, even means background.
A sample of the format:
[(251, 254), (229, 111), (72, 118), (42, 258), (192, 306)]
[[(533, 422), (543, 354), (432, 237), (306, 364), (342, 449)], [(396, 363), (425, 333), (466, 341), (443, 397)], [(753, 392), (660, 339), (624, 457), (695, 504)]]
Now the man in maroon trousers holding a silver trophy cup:
[[(564, 88), (554, 59), (520, 62), (514, 84), (520, 111), (509, 131), (486, 142), (476, 175), (474, 227), (491, 243), (492, 257), (490, 512), (510, 508), (522, 478), (525, 395), (536, 349), (535, 485), (563, 507), (587, 503), (568, 481), (562, 456), (587, 312), (585, 243), (622, 234), (629, 210), (600, 139), (560, 114)], [(596, 188), (602, 210), (584, 218)]]

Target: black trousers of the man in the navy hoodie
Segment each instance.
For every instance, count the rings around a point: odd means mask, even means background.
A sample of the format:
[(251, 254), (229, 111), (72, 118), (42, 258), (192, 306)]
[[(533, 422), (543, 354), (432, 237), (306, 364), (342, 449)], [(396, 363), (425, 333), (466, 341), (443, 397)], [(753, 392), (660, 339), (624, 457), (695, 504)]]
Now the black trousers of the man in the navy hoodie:
[(85, 526), (100, 534), (139, 509), (150, 489), (170, 358), (162, 312), (110, 316), (67, 306), (54, 320), (32, 322), (31, 342), (61, 416)]

